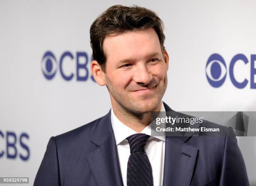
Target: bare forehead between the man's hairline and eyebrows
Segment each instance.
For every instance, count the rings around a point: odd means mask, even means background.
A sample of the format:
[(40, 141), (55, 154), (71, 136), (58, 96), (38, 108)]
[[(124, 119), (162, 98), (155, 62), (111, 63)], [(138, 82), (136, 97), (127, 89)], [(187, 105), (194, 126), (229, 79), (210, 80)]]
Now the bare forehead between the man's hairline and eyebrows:
[(161, 45), (154, 28), (108, 35), (103, 41), (107, 61), (123, 58), (140, 59), (151, 53), (161, 53)]

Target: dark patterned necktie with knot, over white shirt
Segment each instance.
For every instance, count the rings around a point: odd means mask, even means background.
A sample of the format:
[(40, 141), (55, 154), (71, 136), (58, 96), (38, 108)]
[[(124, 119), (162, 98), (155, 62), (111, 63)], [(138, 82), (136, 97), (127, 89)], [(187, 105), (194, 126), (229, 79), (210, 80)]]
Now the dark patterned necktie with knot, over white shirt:
[(137, 133), (129, 136), (130, 156), (127, 163), (127, 186), (153, 186), (152, 168), (144, 146), (150, 136)]

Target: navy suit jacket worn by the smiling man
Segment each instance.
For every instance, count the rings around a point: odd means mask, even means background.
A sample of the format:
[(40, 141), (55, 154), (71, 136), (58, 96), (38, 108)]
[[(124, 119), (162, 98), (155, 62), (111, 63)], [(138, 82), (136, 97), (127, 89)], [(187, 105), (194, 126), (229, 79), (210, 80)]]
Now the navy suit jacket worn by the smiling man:
[[(123, 186), (110, 114), (51, 137), (34, 186)], [(237, 139), (228, 135), (232, 128), (227, 131), (220, 137), (166, 136), (163, 186), (248, 186)]]

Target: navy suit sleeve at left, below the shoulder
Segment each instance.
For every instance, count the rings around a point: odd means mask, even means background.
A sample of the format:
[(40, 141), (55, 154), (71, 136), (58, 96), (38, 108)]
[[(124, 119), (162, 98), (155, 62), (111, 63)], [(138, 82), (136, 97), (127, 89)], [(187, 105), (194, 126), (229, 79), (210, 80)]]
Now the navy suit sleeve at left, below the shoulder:
[(52, 136), (48, 142), (44, 158), (36, 174), (34, 186), (60, 186), (59, 161), (56, 141)]

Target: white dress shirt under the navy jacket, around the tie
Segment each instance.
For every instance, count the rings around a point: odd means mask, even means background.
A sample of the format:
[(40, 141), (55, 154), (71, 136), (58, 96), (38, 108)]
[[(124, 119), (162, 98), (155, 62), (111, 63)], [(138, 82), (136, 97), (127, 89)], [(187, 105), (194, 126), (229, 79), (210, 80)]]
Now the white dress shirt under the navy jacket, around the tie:
[[(165, 111), (163, 103), (161, 103), (161, 111)], [(113, 108), (111, 108), (111, 123), (117, 145), (123, 185), (127, 186), (126, 176), (127, 163), (130, 156), (130, 146), (126, 138), (137, 132), (133, 131), (133, 129), (125, 126), (121, 121), (119, 121), (113, 112)], [(145, 133), (150, 136), (145, 145), (145, 152), (152, 167), (154, 186), (162, 186), (164, 176), (165, 136), (151, 136), (151, 124), (146, 126), (141, 133)]]

